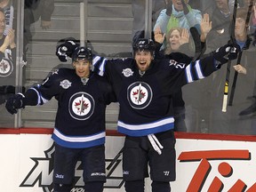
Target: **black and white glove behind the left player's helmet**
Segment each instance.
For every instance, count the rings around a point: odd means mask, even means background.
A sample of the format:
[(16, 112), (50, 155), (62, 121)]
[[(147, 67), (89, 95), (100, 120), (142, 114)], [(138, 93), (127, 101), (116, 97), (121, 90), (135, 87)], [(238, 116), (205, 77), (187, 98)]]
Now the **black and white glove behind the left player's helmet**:
[(69, 37), (67, 39), (60, 39), (56, 47), (56, 55), (62, 62), (67, 62), (68, 58), (72, 57), (72, 53), (76, 49), (76, 39)]

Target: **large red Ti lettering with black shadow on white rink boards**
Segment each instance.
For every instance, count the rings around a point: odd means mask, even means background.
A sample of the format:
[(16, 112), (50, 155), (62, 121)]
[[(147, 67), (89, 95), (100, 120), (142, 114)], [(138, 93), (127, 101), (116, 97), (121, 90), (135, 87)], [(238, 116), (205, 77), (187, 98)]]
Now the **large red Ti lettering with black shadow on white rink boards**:
[[(180, 163), (192, 164), (193, 162), (200, 162), (196, 172), (194, 173), (192, 180), (190, 180), (187, 192), (201, 191), (204, 187), (205, 181), (210, 182), (210, 187), (206, 190), (209, 192), (223, 191), (227, 179), (232, 178), (232, 174), (236, 172), (236, 167), (232, 167), (234, 161), (248, 161), (251, 160), (251, 154), (249, 150), (206, 150), (206, 151), (189, 151), (181, 152), (178, 157)], [(220, 176), (215, 176), (213, 180), (209, 180), (208, 176), (212, 171), (212, 162), (219, 160), (218, 172)], [(247, 174), (246, 170), (241, 174)], [(219, 174), (218, 174), (219, 175)], [(222, 181), (221, 181), (222, 180)], [(225, 182), (223, 181), (225, 180)], [(234, 180), (234, 178), (232, 178)], [(228, 192), (255, 192), (256, 182), (252, 186), (247, 186), (243, 180), (239, 178), (235, 179), (234, 184), (229, 188)]]

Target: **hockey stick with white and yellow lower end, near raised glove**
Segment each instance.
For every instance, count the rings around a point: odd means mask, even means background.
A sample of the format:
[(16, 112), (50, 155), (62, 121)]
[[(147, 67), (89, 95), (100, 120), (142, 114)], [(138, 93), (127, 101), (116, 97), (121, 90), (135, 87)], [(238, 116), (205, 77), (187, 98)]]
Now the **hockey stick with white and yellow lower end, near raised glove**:
[[(236, 44), (236, 39), (235, 39), (236, 10), (237, 10), (237, 0), (235, 0), (233, 18), (230, 24), (230, 43), (231, 44)], [(226, 81), (224, 86), (224, 95), (223, 95), (223, 102), (222, 102), (222, 112), (227, 112), (230, 66), (231, 66), (231, 60), (228, 60)]]

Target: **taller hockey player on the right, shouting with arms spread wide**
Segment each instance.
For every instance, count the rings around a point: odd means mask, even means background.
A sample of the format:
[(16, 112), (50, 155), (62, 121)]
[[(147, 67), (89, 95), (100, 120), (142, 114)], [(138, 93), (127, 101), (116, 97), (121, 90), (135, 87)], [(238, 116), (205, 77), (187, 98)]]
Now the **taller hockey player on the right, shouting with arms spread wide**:
[(126, 135), (123, 175), (127, 192), (143, 192), (148, 177), (152, 192), (170, 192), (175, 180), (175, 138), (172, 94), (236, 59), (239, 47), (227, 44), (203, 60), (179, 63), (154, 60), (155, 44), (139, 39), (133, 45), (134, 59), (106, 60), (95, 57), (95, 72), (108, 76), (120, 104), (117, 131)]

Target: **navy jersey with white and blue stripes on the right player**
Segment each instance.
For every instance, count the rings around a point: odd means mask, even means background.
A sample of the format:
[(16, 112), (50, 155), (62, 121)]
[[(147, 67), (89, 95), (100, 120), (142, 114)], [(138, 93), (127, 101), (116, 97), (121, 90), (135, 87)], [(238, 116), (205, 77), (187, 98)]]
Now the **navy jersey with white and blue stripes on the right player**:
[(118, 132), (135, 137), (172, 130), (173, 93), (218, 69), (213, 56), (190, 64), (153, 60), (144, 74), (133, 59), (95, 57), (93, 65), (100, 76), (108, 76), (116, 92), (120, 104)]

